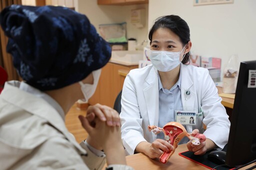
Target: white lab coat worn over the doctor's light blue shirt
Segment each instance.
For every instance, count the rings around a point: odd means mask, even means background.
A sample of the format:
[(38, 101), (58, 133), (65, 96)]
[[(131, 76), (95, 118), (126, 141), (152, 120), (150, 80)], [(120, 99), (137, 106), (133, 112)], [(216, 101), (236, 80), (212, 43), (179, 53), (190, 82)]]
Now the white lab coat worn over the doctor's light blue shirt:
[[(180, 64), (180, 74), (183, 110), (198, 110), (197, 125), (185, 126), (187, 132), (198, 129), (222, 149), (228, 140), (230, 122), (208, 70)], [(187, 98), (186, 90), (191, 93)], [(158, 125), (158, 96), (158, 75), (152, 65), (133, 69), (127, 74), (122, 89), (120, 113), (121, 138), (126, 154), (133, 154), (142, 141), (152, 143), (156, 140), (156, 135), (149, 132), (147, 126)], [(203, 124), (207, 128), (205, 131)]]

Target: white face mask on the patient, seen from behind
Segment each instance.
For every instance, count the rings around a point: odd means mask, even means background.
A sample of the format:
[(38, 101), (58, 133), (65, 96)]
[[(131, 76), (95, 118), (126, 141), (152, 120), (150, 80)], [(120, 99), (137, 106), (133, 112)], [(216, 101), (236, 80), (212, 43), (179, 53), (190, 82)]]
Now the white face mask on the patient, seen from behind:
[(92, 71), (93, 84), (83, 84), (81, 81), (79, 81), (79, 84), (81, 85), (81, 91), (85, 99), (84, 102), (88, 102), (89, 98), (94, 94), (100, 73), (101, 69)]

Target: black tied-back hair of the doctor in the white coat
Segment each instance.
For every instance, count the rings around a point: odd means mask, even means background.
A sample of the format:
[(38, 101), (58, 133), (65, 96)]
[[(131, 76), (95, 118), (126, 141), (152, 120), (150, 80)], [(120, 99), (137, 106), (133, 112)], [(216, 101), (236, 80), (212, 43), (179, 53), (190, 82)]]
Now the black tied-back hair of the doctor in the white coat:
[[(182, 45), (186, 45), (190, 41), (189, 27), (182, 18), (177, 15), (166, 15), (158, 17), (148, 33), (148, 39), (150, 44), (152, 41), (152, 35), (158, 28), (168, 28), (174, 32), (180, 39)], [(189, 62), (190, 53), (186, 53), (183, 60), (183, 64)]]

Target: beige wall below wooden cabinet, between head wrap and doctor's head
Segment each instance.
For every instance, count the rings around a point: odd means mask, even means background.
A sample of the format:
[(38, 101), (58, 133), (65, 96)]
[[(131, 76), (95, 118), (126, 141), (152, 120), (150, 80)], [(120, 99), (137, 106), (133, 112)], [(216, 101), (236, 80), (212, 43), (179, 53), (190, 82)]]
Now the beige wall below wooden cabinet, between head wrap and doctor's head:
[[(74, 0), (75, 10), (85, 14), (98, 31), (99, 24), (127, 22), (127, 38), (133, 37), (137, 42), (147, 39), (148, 4), (139, 5), (97, 5), (97, 0)], [(143, 28), (136, 28), (130, 23), (130, 10), (145, 8), (146, 23)], [(99, 31), (98, 31), (99, 32)]]

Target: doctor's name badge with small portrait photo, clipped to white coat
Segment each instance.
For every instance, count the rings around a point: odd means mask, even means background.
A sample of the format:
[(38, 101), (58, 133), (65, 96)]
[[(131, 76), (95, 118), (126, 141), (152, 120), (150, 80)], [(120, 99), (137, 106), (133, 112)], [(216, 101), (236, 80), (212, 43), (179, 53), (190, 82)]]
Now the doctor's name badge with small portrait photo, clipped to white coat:
[(190, 111), (175, 111), (175, 122), (181, 125), (196, 125), (196, 112)]

